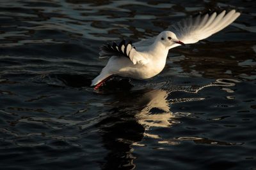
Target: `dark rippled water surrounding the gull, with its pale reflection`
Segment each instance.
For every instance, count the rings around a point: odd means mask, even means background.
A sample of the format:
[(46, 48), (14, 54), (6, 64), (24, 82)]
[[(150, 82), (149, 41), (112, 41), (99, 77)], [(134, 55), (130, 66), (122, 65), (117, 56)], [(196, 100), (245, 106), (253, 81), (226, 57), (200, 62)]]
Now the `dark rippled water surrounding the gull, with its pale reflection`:
[[(254, 1), (0, 2), (1, 169), (256, 169)], [(106, 41), (243, 14), (150, 80), (90, 85)]]

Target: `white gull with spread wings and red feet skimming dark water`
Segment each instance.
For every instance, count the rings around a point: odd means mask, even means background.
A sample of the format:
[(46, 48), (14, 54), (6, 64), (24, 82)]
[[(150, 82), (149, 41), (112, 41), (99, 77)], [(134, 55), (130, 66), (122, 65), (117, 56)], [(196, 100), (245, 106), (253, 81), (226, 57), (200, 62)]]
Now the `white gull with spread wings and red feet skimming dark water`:
[(184, 18), (153, 38), (102, 45), (99, 58), (109, 60), (91, 86), (97, 90), (114, 75), (138, 80), (152, 78), (164, 69), (171, 48), (208, 38), (230, 25), (240, 14), (236, 10), (200, 14)]

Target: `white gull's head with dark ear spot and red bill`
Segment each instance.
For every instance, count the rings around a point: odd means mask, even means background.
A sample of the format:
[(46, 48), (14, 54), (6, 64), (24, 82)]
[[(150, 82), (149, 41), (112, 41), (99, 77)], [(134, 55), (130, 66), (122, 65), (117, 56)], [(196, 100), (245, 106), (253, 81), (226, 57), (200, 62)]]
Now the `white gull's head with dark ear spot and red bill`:
[(177, 38), (177, 36), (172, 31), (161, 32), (157, 36), (157, 39), (159, 42), (163, 43), (164, 46), (171, 46), (174, 43), (178, 43), (180, 45), (185, 45)]

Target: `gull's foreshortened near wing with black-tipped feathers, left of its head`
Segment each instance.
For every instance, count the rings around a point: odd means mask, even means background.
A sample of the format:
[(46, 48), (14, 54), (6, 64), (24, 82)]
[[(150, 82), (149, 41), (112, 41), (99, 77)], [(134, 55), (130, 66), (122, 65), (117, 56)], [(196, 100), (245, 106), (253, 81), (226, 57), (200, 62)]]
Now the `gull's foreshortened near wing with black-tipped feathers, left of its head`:
[(127, 57), (133, 62), (133, 64), (147, 64), (148, 62), (148, 60), (143, 57), (141, 52), (138, 52), (135, 49), (131, 41), (129, 41), (129, 43), (125, 43), (125, 40), (121, 41), (119, 44), (113, 42), (113, 45), (107, 44), (100, 46), (99, 55), (100, 59), (105, 59), (113, 55)]

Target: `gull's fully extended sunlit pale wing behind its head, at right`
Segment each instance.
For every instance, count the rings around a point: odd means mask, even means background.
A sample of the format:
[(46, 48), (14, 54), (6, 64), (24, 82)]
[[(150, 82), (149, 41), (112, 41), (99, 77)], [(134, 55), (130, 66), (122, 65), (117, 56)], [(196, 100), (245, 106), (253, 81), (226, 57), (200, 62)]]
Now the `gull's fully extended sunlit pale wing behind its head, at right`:
[[(234, 22), (239, 15), (240, 13), (236, 10), (231, 10), (227, 14), (225, 10), (219, 14), (216, 12), (212, 14), (207, 13), (197, 17), (185, 18), (171, 25), (168, 29), (174, 32), (183, 43), (191, 44), (221, 31), (221, 29)], [(179, 46), (179, 44), (172, 45), (171, 48), (175, 46)]]

